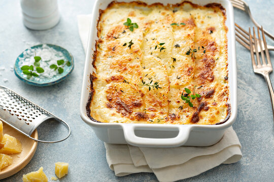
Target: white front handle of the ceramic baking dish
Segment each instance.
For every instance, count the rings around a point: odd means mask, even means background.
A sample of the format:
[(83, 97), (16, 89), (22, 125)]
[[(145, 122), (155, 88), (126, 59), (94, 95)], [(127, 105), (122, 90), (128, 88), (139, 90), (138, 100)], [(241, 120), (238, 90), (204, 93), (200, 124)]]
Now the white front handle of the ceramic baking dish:
[[(139, 147), (178, 147), (184, 145), (189, 137), (189, 133), (191, 130), (190, 125), (182, 125), (176, 126), (173, 129), (179, 129), (179, 133), (174, 138), (166, 138), (166, 139), (155, 139), (155, 138), (143, 138), (140, 136), (136, 136), (134, 130), (139, 126), (136, 125), (122, 125), (125, 140), (128, 144)], [(164, 127), (161, 126), (146, 126), (146, 129), (151, 128), (151, 130), (165, 130)], [(157, 129), (158, 128), (158, 129)]]

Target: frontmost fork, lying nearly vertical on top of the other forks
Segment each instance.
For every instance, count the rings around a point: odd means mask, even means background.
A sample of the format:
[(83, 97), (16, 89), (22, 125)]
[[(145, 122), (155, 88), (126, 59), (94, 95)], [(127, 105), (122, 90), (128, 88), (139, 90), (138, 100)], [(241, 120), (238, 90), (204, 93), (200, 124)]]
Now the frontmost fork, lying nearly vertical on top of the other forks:
[[(271, 103), (272, 103), (272, 113), (273, 113), (273, 116), (274, 116), (274, 92), (273, 92), (271, 81), (269, 79), (269, 73), (271, 73), (273, 71), (273, 68), (272, 68), (272, 65), (271, 65), (271, 61), (270, 61), (268, 49), (266, 47), (266, 41), (265, 41), (264, 31), (262, 31), (262, 38), (263, 38), (264, 47), (266, 49), (264, 51), (261, 51), (261, 53), (260, 53), (261, 54), (261, 58), (262, 58), (262, 63), (261, 63), (259, 52), (258, 52), (258, 47), (260, 47), (260, 49), (262, 50), (262, 41), (261, 41), (260, 29), (263, 30), (263, 28), (261, 26), (260, 28), (257, 27), (257, 29), (258, 29), (258, 39), (256, 38), (255, 28), (253, 27), (253, 35), (254, 35), (254, 43), (253, 43), (252, 42), (251, 31), (250, 31), (250, 28), (249, 28), (250, 50), (253, 49), (251, 47), (255, 47), (256, 57), (257, 57), (257, 63), (256, 63), (255, 62), (255, 58), (254, 58), (254, 53), (253, 53), (253, 51), (250, 51), (252, 65), (253, 65), (253, 71), (255, 73), (263, 75), (263, 77), (264, 77), (264, 79), (265, 79), (265, 81), (266, 81), (266, 83), (268, 85), (268, 91), (269, 91), (270, 98), (271, 98)], [(257, 43), (257, 41), (259, 43)], [(264, 54), (266, 56), (267, 63), (265, 61)]]

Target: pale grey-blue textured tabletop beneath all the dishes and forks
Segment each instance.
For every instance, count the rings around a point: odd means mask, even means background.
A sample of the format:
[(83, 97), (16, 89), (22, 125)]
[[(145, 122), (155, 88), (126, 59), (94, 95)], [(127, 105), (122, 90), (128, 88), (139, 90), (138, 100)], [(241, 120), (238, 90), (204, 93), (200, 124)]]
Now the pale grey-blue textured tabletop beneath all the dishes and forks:
[[(274, 1), (249, 0), (256, 20), (274, 34)], [(139, 173), (116, 177), (110, 170), (104, 144), (80, 118), (80, 92), (85, 54), (77, 27), (77, 15), (91, 13), (93, 1), (59, 1), (61, 20), (53, 29), (32, 31), (24, 27), (19, 1), (0, 1), (0, 84), (48, 109), (72, 127), (72, 135), (57, 144), (39, 143), (35, 156), (17, 174), (1, 181), (21, 181), (22, 175), (40, 166), (49, 178), (54, 163), (70, 163), (69, 173), (60, 181), (157, 181), (154, 174)], [(247, 29), (249, 17), (235, 10), (235, 21)], [(34, 87), (20, 81), (11, 67), (25, 49), (39, 43), (58, 44), (75, 58), (75, 70), (61, 83)], [(274, 41), (268, 39), (268, 44)], [(238, 72), (238, 115), (233, 124), (242, 144), (243, 158), (235, 164), (220, 165), (182, 181), (274, 181), (274, 124), (266, 83), (252, 70), (250, 53), (236, 43)], [(272, 62), (274, 54), (271, 53)], [(4, 81), (8, 79), (8, 81)], [(274, 74), (270, 75), (274, 82)], [(58, 126), (58, 125), (57, 125)], [(50, 133), (46, 126), (45, 135)], [(40, 131), (42, 133), (42, 131)], [(59, 134), (56, 134), (58, 136)]]

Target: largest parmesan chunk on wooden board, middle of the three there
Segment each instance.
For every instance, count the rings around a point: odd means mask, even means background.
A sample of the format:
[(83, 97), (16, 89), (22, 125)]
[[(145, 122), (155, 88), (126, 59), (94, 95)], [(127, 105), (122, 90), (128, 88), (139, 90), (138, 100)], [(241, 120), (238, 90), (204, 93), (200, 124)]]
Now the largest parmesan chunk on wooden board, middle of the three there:
[(20, 141), (9, 134), (4, 134), (1, 144), (4, 145), (0, 150), (2, 154), (16, 154), (22, 151)]

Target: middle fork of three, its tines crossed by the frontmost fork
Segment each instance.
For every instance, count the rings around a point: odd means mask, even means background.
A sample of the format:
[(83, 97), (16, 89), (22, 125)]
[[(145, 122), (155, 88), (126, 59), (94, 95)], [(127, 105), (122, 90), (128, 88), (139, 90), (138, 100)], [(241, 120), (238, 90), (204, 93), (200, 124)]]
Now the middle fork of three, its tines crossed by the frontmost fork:
[[(249, 33), (243, 29), (241, 26), (235, 23), (235, 35), (236, 35), (236, 40), (241, 43), (245, 48), (250, 50), (250, 43), (249, 43)], [(254, 43), (254, 37), (252, 36), (252, 42)], [(259, 47), (259, 41), (257, 39), (257, 44), (258, 44), (258, 52), (261, 52), (261, 49)], [(268, 51), (274, 51), (274, 46), (267, 45)], [(264, 44), (262, 44), (262, 50), (264, 51)], [(255, 48), (253, 49), (253, 52), (255, 53), (256, 50)]]

